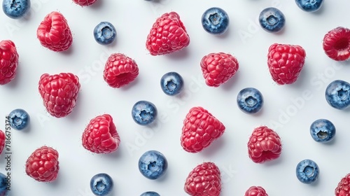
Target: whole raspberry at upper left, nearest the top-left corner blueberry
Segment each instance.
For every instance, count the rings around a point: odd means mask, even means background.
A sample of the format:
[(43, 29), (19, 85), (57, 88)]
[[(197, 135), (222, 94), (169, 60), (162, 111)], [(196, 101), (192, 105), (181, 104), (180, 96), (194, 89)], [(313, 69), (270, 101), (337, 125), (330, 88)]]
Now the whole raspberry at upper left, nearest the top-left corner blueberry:
[(56, 11), (45, 16), (36, 31), (36, 36), (41, 45), (56, 52), (68, 50), (73, 42), (66, 18)]

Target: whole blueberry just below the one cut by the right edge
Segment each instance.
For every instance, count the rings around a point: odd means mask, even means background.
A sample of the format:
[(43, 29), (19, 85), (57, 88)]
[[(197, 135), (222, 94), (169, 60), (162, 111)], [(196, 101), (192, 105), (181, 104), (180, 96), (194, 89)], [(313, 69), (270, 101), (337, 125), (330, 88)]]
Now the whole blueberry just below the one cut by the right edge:
[(310, 134), (314, 141), (326, 143), (334, 138), (335, 126), (329, 120), (318, 119), (311, 124)]

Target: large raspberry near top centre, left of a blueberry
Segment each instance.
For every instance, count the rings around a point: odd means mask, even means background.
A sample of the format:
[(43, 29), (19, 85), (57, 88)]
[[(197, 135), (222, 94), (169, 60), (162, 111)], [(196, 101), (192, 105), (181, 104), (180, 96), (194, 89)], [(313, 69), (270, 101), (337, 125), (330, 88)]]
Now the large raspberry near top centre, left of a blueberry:
[(146, 48), (151, 55), (165, 55), (181, 50), (188, 44), (190, 44), (190, 37), (179, 14), (171, 12), (155, 20), (147, 36)]

